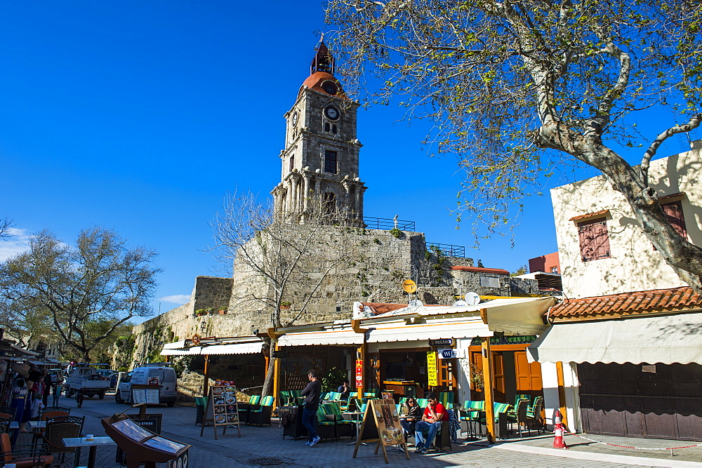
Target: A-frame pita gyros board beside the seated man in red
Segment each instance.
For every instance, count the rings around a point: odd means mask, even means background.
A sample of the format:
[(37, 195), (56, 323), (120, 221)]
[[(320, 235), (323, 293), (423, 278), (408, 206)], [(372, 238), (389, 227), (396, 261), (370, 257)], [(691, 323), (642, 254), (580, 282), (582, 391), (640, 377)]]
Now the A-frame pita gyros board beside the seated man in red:
[(404, 432), (399, 423), (399, 413), (395, 400), (369, 400), (366, 412), (363, 415), (363, 423), (359, 429), (359, 436), (356, 439), (356, 448), (353, 452), (355, 458), (358, 448), (362, 443), (377, 442), (375, 455), (378, 449), (383, 448), (383, 458), (388, 461), (388, 451), (385, 447), (399, 446), (404, 449), (404, 456), (409, 460), (407, 443), (404, 441)]

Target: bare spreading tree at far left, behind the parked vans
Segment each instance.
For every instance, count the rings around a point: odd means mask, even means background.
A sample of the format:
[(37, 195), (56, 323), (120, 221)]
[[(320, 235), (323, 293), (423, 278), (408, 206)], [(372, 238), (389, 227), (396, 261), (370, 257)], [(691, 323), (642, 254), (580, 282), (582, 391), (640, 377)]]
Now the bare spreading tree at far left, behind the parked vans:
[(82, 231), (74, 248), (43, 231), (27, 252), (0, 264), (0, 296), (23, 314), (17, 319), (48, 316), (62, 342), (89, 361), (123, 323), (152, 314), (155, 255), (126, 248), (109, 229)]

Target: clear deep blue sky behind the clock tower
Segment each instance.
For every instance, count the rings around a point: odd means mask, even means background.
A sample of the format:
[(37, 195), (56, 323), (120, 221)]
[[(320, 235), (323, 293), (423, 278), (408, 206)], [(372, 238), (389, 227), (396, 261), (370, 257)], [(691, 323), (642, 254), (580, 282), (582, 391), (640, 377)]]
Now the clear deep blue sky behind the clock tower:
[[(312, 0), (2, 2), (0, 216), (18, 235), (0, 241), (0, 260), (41, 229), (72, 243), (111, 227), (159, 252), (155, 311), (183, 303), (195, 276), (218, 274), (204, 250), (225, 192), (266, 196), (279, 182), (282, 116), (323, 28)], [(399, 215), (428, 241), (472, 246), (448, 214), (455, 160), (428, 158), (423, 126), (402, 115), (359, 111), (366, 216)], [(680, 150), (675, 140), (659, 154)], [(557, 250), (546, 193), (528, 201), (514, 246), (498, 237), (466, 255), (514, 271)]]

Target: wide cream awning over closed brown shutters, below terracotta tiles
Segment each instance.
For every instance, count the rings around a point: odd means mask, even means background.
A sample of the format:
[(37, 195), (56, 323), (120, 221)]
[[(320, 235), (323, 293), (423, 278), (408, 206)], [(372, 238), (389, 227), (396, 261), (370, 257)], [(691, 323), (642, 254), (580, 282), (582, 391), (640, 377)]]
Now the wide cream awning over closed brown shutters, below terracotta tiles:
[(529, 360), (576, 363), (702, 363), (702, 314), (557, 323)]

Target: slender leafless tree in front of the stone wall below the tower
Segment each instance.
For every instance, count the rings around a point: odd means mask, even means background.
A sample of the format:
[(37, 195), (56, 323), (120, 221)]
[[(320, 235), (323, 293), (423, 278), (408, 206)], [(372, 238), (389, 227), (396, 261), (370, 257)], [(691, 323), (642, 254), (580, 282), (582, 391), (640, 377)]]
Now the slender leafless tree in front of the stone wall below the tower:
[[(272, 203), (235, 193), (226, 197), (213, 222), (220, 260), (234, 265), (234, 290), (239, 291), (234, 300), (266, 311), (267, 326), (304, 319), (332, 275), (364, 262), (364, 229), (355, 226), (351, 213), (321, 199), (310, 199), (307, 206), (305, 213), (274, 213)], [(291, 309), (282, 309), (288, 303)], [(264, 396), (270, 394), (272, 377), (273, 359)]]

